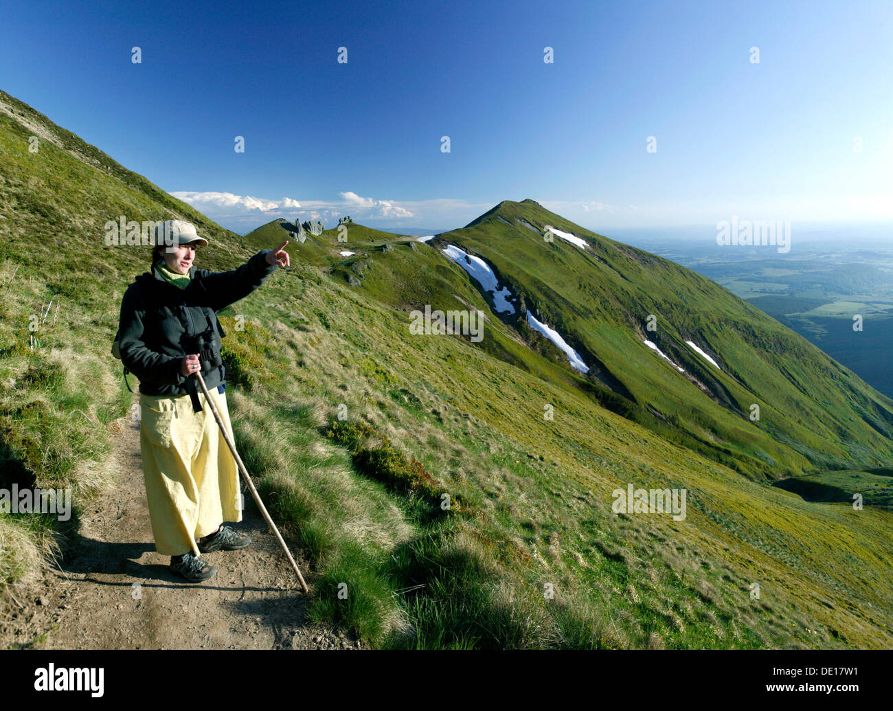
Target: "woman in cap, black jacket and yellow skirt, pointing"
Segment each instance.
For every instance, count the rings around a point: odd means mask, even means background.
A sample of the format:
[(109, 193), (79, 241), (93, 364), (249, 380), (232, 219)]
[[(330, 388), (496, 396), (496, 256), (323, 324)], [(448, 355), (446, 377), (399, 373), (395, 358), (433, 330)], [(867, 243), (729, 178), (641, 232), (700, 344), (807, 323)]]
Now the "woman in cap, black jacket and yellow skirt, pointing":
[(242, 520), (238, 470), (204, 393), (202, 372), (232, 436), (216, 312), (248, 296), (280, 266), (285, 247), (264, 249), (231, 272), (197, 270), (196, 247), (207, 247), (189, 222), (154, 231), (152, 271), (121, 300), (121, 361), (139, 379), (139, 443), (155, 548), (190, 582), (217, 572), (200, 556), (245, 548), (251, 540), (224, 522)]

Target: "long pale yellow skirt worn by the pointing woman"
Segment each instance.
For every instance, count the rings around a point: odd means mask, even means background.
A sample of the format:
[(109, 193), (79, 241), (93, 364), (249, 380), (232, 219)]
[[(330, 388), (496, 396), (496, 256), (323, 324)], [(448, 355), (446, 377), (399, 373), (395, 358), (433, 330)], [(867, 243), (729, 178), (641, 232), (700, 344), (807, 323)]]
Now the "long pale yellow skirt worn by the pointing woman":
[[(211, 397), (232, 437), (226, 394)], [(242, 520), (238, 469), (207, 405), (192, 410), (188, 395), (140, 395), (139, 444), (155, 548), (163, 556), (199, 555), (196, 539), (224, 522)]]

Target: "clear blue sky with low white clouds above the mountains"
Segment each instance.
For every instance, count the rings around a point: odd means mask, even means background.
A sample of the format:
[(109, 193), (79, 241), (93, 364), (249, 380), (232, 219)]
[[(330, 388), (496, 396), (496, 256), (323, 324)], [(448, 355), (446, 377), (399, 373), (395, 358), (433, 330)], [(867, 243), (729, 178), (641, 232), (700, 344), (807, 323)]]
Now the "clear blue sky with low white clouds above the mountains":
[(184, 5), (4, 0), (0, 88), (238, 232), (893, 222), (889, 2)]

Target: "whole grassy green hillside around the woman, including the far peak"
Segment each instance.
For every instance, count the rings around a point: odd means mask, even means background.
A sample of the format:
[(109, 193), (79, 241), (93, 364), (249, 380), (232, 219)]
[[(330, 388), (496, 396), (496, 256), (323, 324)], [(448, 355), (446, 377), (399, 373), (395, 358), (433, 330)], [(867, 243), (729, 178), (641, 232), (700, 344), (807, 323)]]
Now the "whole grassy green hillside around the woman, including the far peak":
[[(21, 120), (0, 106), (0, 456), (5, 481), (71, 484), (83, 511), (101, 501), (109, 429), (129, 408), (108, 348), (123, 289), (148, 257), (144, 247), (106, 247), (104, 222), (182, 216), (212, 241), (196, 261), (218, 269), (278, 244), (282, 228), (239, 238), (14, 108)], [(30, 154), (35, 129), (60, 131), (58, 142)], [(521, 213), (530, 224), (543, 217), (536, 205), (498, 207), (536, 211)], [(51, 225), (46, 214), (65, 219)], [(811, 502), (762, 481), (835, 459), (877, 468), (889, 440), (863, 417), (869, 400), (885, 405), (877, 394), (821, 354), (782, 359), (798, 337), (766, 330), (755, 311), (736, 321), (737, 301), (680, 267), (652, 258), (645, 271), (645, 253), (607, 240), (594, 255), (553, 244), (555, 254), (538, 254), (523, 233), (488, 243), (487, 219), (428, 244), (362, 225), (348, 227), (345, 244), (327, 230), (290, 245), (293, 268), (225, 314), (238, 447), (309, 556), (312, 615), (380, 647), (889, 647), (893, 514)], [(572, 371), (522, 319), (494, 314), (440, 253), (446, 241), (494, 263), (547, 323), (601, 361), (605, 382)], [(656, 286), (637, 285), (648, 280)], [(578, 284), (591, 298), (575, 294)], [(722, 319), (686, 310), (683, 299), (702, 291)], [(53, 313), (29, 331), (51, 299)], [(411, 335), (409, 310), (425, 304), (480, 308), (485, 339)], [(655, 338), (707, 393), (637, 341), (638, 308), (658, 315)], [(770, 337), (775, 360), (754, 346)], [(681, 352), (676, 340), (689, 338), (722, 373)], [(770, 414), (788, 398), (791, 422), (764, 414), (761, 427), (735, 414), (751, 393)], [(668, 420), (647, 416), (651, 408)], [(686, 518), (614, 514), (613, 490), (629, 483), (686, 489)], [(52, 521), (0, 514), (3, 580), (27, 578), (54, 547), (64, 555), (60, 533)]]

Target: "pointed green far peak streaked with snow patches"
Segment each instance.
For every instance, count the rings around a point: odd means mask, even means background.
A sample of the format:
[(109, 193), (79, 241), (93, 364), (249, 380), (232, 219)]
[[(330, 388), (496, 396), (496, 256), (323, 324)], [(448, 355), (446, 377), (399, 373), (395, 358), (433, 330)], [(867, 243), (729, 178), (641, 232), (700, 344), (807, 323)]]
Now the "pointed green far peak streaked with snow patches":
[(680, 433), (716, 461), (777, 478), (893, 455), (888, 397), (695, 272), (532, 200), (505, 201), (430, 242), (446, 244), (492, 264), (540, 321), (598, 365), (634, 419)]

